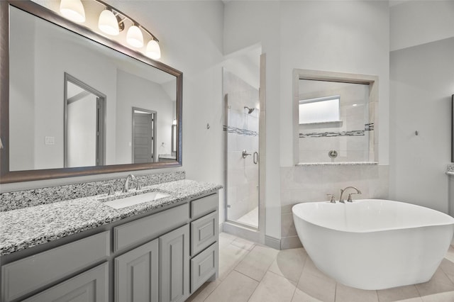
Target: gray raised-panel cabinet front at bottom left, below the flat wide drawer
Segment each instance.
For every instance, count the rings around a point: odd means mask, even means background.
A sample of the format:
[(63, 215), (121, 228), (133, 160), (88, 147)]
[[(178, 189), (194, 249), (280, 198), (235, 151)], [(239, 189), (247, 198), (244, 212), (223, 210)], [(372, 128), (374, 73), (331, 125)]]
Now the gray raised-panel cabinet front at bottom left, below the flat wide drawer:
[(23, 302), (109, 301), (109, 265), (107, 262), (78, 274)]

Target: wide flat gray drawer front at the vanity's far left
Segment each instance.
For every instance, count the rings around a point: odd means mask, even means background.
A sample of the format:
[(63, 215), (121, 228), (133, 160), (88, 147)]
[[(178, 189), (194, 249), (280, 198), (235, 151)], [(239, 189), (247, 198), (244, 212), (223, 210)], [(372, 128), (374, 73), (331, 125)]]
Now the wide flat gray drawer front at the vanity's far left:
[(25, 295), (109, 256), (109, 231), (55, 247), (1, 267), (5, 302)]

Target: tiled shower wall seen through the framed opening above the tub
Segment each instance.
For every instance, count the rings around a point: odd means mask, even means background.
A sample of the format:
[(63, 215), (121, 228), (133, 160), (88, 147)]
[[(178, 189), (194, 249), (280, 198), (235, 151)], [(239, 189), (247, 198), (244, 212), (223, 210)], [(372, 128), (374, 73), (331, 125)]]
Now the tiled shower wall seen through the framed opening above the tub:
[[(300, 99), (340, 95), (340, 122), (299, 125), (299, 162), (370, 161), (369, 85), (300, 80)], [(372, 145), (373, 147), (373, 145)], [(338, 156), (328, 156), (336, 150)]]

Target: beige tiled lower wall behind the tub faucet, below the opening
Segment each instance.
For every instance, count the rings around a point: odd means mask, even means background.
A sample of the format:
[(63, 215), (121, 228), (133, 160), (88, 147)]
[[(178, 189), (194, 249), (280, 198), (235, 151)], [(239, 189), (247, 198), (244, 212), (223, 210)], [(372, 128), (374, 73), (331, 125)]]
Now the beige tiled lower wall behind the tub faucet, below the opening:
[(326, 194), (339, 200), (341, 189), (356, 186), (364, 198), (388, 198), (388, 165), (381, 164), (314, 164), (281, 167), (281, 248), (300, 247), (294, 227), (292, 206), (311, 201), (328, 201)]

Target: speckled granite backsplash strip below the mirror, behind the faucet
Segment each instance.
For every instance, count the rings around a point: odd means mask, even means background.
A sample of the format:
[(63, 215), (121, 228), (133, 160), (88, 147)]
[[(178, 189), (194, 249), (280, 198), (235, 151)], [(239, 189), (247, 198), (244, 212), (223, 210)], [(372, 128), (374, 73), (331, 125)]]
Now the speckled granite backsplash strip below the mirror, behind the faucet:
[[(169, 181), (185, 179), (184, 171), (137, 176), (143, 186), (162, 184)], [(92, 181), (82, 184), (68, 184), (65, 186), (52, 186), (48, 188), (31, 189), (0, 193), (0, 212), (38, 206), (40, 204), (67, 201), (75, 198), (104, 194), (114, 186), (114, 191), (123, 189), (125, 179), (110, 179), (105, 181)]]

